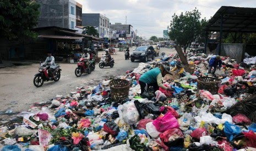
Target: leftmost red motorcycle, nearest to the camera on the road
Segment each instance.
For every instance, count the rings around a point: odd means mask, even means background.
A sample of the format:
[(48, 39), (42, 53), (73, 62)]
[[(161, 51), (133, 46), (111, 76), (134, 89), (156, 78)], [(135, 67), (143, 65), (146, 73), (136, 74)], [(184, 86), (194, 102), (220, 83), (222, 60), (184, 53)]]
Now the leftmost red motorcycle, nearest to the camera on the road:
[(39, 88), (43, 85), (43, 82), (55, 81), (57, 82), (61, 78), (61, 65), (56, 64), (55, 71), (53, 71), (53, 75), (55, 78), (49, 77), (47, 70), (50, 69), (50, 65), (46, 62), (40, 62), (39, 73), (35, 74), (35, 78), (33, 80), (34, 85)]

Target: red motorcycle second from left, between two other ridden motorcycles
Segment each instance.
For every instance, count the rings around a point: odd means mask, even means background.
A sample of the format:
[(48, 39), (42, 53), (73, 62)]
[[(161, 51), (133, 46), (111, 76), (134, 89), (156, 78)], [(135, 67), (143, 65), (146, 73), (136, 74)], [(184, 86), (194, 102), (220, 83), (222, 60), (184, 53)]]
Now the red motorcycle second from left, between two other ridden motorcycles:
[(79, 62), (77, 63), (77, 68), (75, 68), (75, 76), (81, 77), (83, 73), (91, 74), (91, 71), (94, 71), (95, 69), (95, 60), (89, 61), (89, 68), (86, 68), (85, 66), (85, 59), (80, 58)]

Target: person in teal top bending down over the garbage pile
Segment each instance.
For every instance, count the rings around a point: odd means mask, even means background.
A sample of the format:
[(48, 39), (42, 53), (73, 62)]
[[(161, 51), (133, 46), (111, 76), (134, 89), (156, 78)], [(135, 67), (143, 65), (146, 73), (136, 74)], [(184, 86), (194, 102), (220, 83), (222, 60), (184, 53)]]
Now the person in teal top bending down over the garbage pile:
[(140, 95), (145, 92), (145, 89), (148, 90), (149, 86), (152, 86), (155, 91), (159, 90), (159, 87), (171, 91), (171, 88), (167, 88), (164, 84), (162, 84), (162, 77), (165, 77), (166, 74), (171, 74), (169, 71), (169, 66), (164, 66), (161, 64), (160, 67), (156, 67), (142, 74), (139, 78), (139, 84), (141, 89)]

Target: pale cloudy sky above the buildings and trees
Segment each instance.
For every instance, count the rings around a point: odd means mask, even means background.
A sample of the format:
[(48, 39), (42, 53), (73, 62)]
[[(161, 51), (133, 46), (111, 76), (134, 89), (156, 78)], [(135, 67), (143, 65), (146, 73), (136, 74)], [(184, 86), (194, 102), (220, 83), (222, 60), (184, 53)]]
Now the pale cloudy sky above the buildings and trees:
[(201, 18), (210, 19), (221, 6), (256, 7), (256, 0), (77, 0), (83, 13), (101, 13), (115, 22), (126, 23), (137, 35), (149, 39), (163, 37), (173, 14), (192, 11), (195, 7)]

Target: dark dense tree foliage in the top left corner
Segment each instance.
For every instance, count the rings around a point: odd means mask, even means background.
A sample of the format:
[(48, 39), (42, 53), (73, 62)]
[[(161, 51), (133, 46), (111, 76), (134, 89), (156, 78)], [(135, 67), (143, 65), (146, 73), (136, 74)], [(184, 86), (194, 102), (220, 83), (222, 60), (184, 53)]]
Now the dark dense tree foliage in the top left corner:
[(25, 36), (37, 38), (32, 30), (38, 24), (40, 4), (30, 0), (0, 1), (0, 36), (24, 39)]

